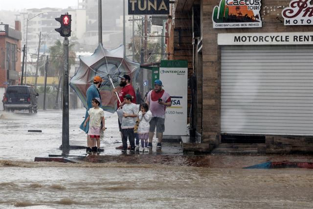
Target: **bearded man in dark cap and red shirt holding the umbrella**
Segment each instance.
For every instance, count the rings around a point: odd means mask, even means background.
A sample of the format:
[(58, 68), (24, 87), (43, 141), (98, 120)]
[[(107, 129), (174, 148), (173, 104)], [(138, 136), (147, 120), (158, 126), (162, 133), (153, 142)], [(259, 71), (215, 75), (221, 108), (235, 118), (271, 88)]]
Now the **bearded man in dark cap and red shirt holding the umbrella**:
[[(121, 91), (118, 93), (118, 97), (121, 101), (121, 103), (119, 103), (119, 101), (117, 101), (117, 109), (119, 107), (123, 107), (123, 105), (125, 104), (124, 102), (124, 97), (126, 94), (130, 94), (132, 96), (132, 102), (134, 104), (136, 104), (136, 93), (135, 93), (135, 90), (134, 90), (134, 87), (133, 85), (131, 84), (131, 77), (129, 75), (123, 75), (123, 76), (119, 76), (119, 78), (121, 79), (121, 82), (120, 82), (120, 86), (122, 86), (123, 88), (121, 89)], [(115, 93), (117, 90), (116, 88), (113, 89), (113, 92)], [(121, 132), (121, 138), (122, 138), (122, 128), (121, 128), (121, 123), (120, 121), (118, 120), (118, 127), (119, 127), (119, 131)], [(122, 149), (123, 146), (117, 146), (115, 147), (116, 149)]]

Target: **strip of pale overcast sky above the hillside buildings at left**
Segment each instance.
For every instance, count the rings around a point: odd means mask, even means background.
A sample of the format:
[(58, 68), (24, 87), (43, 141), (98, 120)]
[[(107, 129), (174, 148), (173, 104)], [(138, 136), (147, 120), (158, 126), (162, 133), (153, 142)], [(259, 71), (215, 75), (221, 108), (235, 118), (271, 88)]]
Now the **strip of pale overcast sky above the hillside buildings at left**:
[(72, 6), (77, 8), (78, 0), (0, 0), (1, 10), (22, 10), (30, 8), (57, 7), (67, 8)]

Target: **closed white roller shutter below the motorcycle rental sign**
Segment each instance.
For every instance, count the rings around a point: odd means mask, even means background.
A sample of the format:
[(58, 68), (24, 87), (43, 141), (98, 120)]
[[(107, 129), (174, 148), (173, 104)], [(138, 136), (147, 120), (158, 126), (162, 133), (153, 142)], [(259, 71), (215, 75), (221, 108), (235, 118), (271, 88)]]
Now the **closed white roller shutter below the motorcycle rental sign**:
[(313, 135), (313, 46), (222, 46), (221, 132)]

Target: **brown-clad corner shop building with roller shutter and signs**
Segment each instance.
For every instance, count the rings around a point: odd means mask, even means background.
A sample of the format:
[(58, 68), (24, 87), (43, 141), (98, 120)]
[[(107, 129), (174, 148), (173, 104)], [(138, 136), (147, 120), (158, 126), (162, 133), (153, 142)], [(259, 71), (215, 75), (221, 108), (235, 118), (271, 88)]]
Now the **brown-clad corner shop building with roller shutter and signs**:
[(175, 1), (168, 50), (188, 60), (200, 138), (185, 151), (313, 152), (310, 1)]

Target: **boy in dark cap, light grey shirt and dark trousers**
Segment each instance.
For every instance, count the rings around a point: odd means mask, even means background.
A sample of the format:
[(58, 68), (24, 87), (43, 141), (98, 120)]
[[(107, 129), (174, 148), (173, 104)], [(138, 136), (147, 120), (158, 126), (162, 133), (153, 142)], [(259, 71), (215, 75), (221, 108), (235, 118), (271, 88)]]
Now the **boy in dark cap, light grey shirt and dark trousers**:
[(122, 142), (123, 149), (122, 152), (126, 152), (127, 150), (127, 138), (129, 140), (129, 144), (131, 145), (131, 152), (135, 152), (135, 141), (134, 141), (134, 125), (135, 120), (137, 118), (137, 113), (139, 110), (139, 105), (132, 103), (132, 96), (130, 94), (126, 94), (124, 97), (124, 106), (123, 106), (123, 119), (122, 119)]

